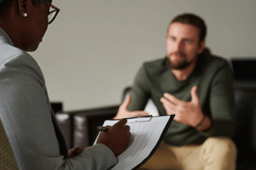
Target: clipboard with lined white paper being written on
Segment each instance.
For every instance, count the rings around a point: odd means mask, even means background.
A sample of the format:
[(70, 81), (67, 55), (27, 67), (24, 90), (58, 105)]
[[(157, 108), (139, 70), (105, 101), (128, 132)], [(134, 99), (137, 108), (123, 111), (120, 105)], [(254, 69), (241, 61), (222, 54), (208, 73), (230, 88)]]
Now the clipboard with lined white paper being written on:
[[(160, 146), (167, 130), (171, 126), (173, 118), (174, 115), (127, 117), (127, 125), (131, 127), (131, 135), (133, 135), (131, 137), (133, 139), (130, 140), (133, 141), (130, 141), (131, 144), (129, 144), (128, 148), (117, 156), (119, 162), (109, 169), (130, 170), (143, 166)], [(118, 121), (107, 120), (103, 125), (112, 126)], [(136, 129), (137, 127), (138, 129)], [(94, 144), (96, 144), (96, 139)]]

